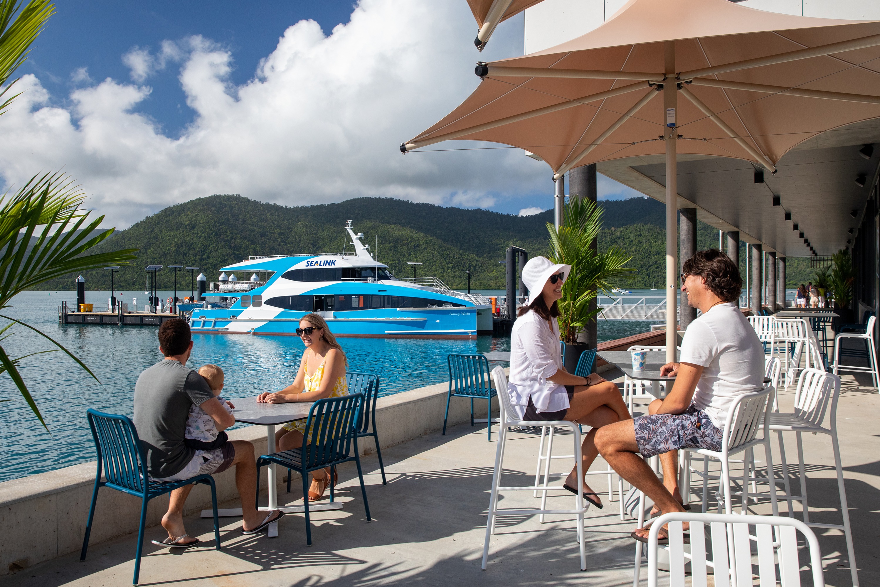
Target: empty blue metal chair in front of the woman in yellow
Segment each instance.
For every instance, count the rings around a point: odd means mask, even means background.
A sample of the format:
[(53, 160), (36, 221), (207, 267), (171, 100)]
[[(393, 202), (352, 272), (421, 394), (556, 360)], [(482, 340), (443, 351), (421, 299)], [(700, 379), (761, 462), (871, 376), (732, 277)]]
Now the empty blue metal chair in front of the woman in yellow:
[[(264, 454), (257, 459), (257, 493), (260, 500), (260, 467), (272, 463), (297, 471), (303, 478), (303, 503), (305, 512), (305, 541), (312, 546), (312, 523), (309, 519), (309, 473), (340, 465), (349, 460), (357, 465), (357, 476), (361, 480), (363, 509), (370, 521), (370, 504), (367, 503), (367, 489), (363, 485), (361, 458), (357, 451), (357, 437), (361, 422), (363, 393), (349, 393), (338, 398), (318, 400), (309, 410), (309, 419), (305, 422), (305, 438), (312, 431), (312, 443), (292, 451)], [(332, 480), (331, 480), (332, 481)], [(334, 501), (334, 486), (330, 483), (330, 501)]]

